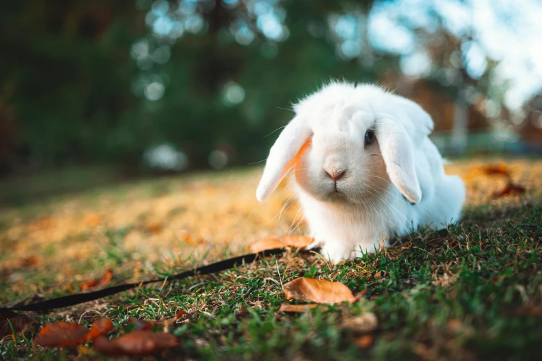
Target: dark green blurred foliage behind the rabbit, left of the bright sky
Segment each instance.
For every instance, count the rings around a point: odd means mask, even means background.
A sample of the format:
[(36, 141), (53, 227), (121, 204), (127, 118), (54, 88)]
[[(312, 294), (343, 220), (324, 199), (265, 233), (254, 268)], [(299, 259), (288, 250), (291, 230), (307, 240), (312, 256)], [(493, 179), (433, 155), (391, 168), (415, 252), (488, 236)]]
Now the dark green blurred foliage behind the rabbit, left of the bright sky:
[[(168, 44), (168, 62), (145, 70), (131, 59), (131, 46), (141, 39), (151, 46), (163, 41), (145, 28), (144, 11), (126, 5), (1, 5), (0, 103), (10, 104), (16, 120), (13, 162), (135, 167), (147, 147), (170, 143), (192, 167), (207, 166), (213, 149), (226, 151), (230, 164), (251, 163), (267, 154), (274, 139), (267, 134), (291, 118), (281, 108), (331, 78), (376, 76), (356, 61), (338, 59), (325, 37), (307, 33), (309, 23), (325, 25), (329, 12), (341, 10), (327, 1), (284, 2), (288, 39), (271, 43), (258, 35), (248, 46), (224, 36), (242, 14), (218, 1), (203, 13), (204, 33), (185, 32)], [(265, 46), (271, 56), (262, 55)], [(165, 86), (160, 100), (146, 100), (138, 87), (150, 79)], [(244, 89), (240, 104), (224, 102), (224, 85), (231, 81)]]

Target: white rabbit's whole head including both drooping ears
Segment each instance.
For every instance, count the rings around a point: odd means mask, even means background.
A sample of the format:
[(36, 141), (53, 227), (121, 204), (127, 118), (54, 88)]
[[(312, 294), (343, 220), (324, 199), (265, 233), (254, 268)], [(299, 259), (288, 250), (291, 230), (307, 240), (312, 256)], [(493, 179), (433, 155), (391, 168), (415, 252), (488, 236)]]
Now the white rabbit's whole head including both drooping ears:
[(294, 106), (256, 190), (263, 201), (290, 169), (300, 188), (334, 203), (363, 203), (390, 185), (412, 203), (422, 199), (413, 142), (433, 128), (417, 104), (377, 86), (332, 82)]

